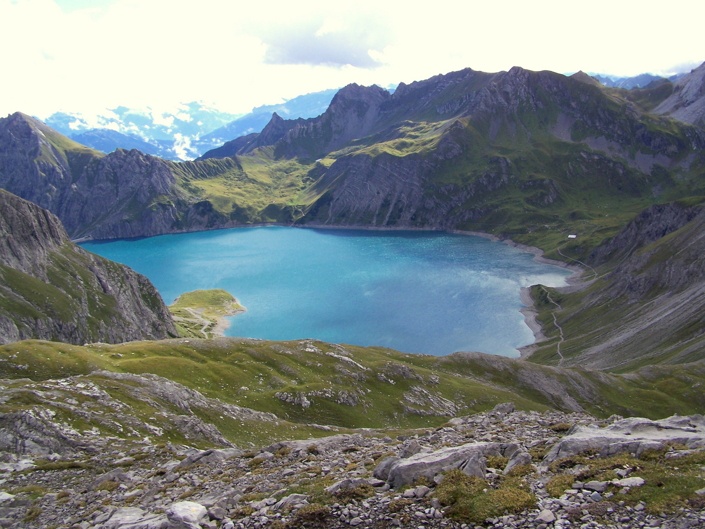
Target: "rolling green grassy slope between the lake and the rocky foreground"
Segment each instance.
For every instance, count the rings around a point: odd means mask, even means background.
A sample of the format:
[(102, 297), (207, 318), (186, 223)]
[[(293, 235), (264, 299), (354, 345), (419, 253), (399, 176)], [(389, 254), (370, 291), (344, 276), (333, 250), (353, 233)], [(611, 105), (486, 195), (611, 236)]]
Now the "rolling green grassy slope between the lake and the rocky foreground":
[(527, 410), (654, 418), (696, 413), (705, 403), (698, 389), (705, 381), (700, 363), (608, 375), (482, 353), (434, 357), (311, 340), (236, 338), (85, 347), (23, 341), (0, 346), (0, 359), (3, 377), (39, 381), (97, 369), (154, 373), (291, 423), (347, 428), (437, 426), (505, 401)]

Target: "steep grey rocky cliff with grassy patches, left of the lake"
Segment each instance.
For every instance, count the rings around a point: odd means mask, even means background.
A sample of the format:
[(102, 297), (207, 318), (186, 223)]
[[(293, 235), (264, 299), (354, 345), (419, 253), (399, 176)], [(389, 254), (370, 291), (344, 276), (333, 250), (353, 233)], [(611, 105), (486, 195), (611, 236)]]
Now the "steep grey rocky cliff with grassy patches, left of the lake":
[(0, 343), (177, 336), (145, 276), (71, 243), (46, 209), (0, 190)]

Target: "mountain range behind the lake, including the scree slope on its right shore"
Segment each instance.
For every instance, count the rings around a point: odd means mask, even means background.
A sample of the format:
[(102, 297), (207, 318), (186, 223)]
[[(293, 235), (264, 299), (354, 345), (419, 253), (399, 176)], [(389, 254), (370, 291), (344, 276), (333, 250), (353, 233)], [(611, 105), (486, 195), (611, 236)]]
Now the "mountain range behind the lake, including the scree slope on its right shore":
[(17, 113), (0, 120), (0, 187), (73, 238), (271, 223), (482, 231), (587, 270), (581, 288), (532, 287), (532, 362), (689, 363), (703, 359), (704, 72), (634, 90), (518, 67), (393, 94), (348, 85), (319, 116), (275, 112), (180, 163), (97, 152)]

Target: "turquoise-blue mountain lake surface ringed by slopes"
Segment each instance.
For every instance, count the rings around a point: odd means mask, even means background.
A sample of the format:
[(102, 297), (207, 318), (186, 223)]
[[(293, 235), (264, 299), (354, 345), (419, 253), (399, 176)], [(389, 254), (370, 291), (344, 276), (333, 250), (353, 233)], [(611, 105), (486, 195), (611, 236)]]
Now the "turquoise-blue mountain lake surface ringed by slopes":
[(570, 275), (503, 243), (425, 231), (269, 226), (82, 246), (145, 274), (167, 304), (224, 288), (247, 308), (229, 318), (228, 336), (431, 355), (518, 356), (534, 341), (520, 288)]

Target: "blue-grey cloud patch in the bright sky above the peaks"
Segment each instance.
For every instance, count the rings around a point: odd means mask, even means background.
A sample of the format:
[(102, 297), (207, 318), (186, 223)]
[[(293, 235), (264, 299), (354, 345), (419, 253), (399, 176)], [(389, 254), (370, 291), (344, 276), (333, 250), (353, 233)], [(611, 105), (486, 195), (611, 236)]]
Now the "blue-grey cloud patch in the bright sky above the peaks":
[(296, 21), (264, 28), (257, 36), (266, 45), (264, 62), (268, 64), (356, 68), (381, 66), (379, 56), (393, 37), (384, 21), (364, 13)]

